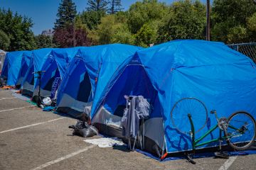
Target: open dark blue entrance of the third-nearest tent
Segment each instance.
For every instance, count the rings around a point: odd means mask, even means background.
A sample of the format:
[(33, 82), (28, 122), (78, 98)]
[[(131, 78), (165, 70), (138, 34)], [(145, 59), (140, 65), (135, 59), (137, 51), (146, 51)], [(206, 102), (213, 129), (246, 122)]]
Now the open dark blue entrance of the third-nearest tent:
[[(58, 69), (57, 62), (53, 58), (48, 58), (43, 64), (41, 76), (41, 92), (40, 96), (42, 97), (50, 97), (53, 81), (56, 78), (60, 78), (60, 72)], [(33, 91), (33, 98), (37, 98), (38, 96), (38, 89), (39, 89), (39, 79), (36, 82), (36, 89)]]

